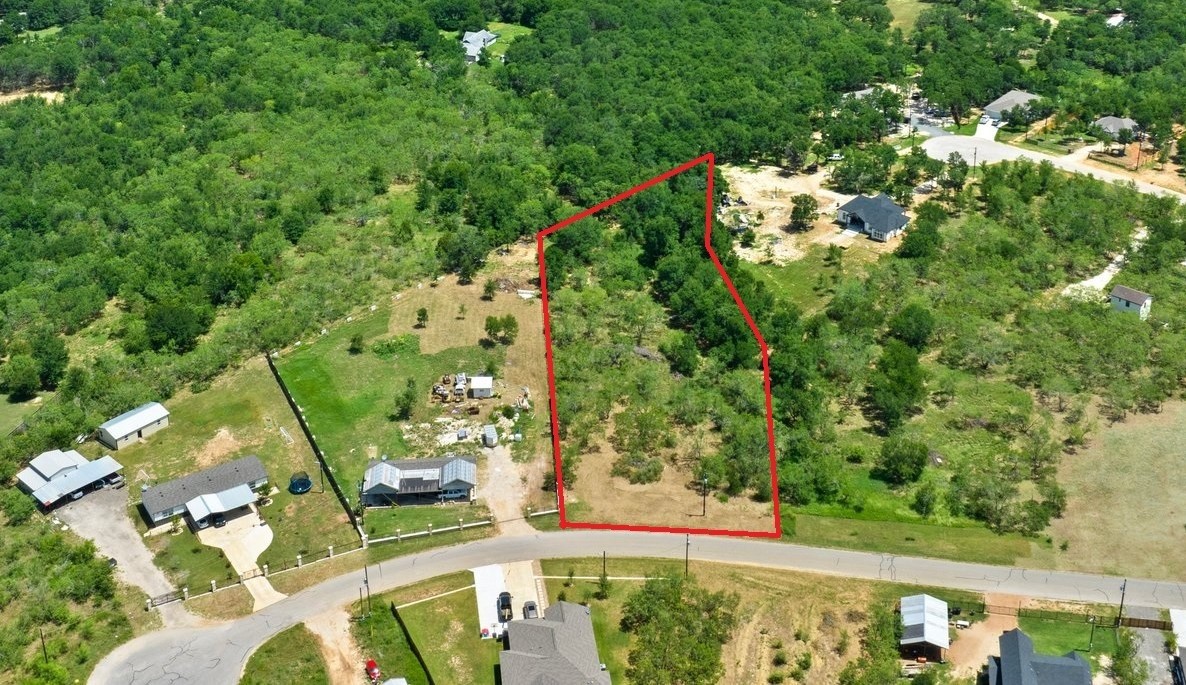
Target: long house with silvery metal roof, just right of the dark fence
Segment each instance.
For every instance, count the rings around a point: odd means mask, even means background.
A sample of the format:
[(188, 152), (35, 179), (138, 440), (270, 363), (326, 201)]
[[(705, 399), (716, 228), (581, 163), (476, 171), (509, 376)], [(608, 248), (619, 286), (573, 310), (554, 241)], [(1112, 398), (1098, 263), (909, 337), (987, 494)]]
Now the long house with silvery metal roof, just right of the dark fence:
[(478, 463), (472, 456), (384, 459), (366, 466), (362, 500), (366, 506), (446, 499), (471, 501), (477, 485)]

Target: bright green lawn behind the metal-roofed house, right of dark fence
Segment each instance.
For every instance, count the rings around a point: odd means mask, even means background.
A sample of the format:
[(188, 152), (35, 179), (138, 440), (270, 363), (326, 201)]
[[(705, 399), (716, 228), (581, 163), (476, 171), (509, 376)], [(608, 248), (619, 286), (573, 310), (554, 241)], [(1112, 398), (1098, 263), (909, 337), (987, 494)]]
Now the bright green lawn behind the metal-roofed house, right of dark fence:
[[(427, 398), (442, 373), (498, 367), (505, 353), (503, 347), (472, 345), (435, 354), (406, 351), (384, 359), (371, 345), (388, 338), (389, 316), (387, 308), (361, 316), (287, 353), (276, 364), (345, 489), (356, 488), (362, 480), (368, 447), (372, 446), (376, 455), (394, 459), (412, 454), (403, 437), (406, 422), (391, 420), (394, 398), (408, 378), (415, 379), (419, 391), (412, 422), (427, 422), (440, 411), (429, 406)], [(359, 354), (347, 351), (353, 335), (362, 335), (365, 345)]]

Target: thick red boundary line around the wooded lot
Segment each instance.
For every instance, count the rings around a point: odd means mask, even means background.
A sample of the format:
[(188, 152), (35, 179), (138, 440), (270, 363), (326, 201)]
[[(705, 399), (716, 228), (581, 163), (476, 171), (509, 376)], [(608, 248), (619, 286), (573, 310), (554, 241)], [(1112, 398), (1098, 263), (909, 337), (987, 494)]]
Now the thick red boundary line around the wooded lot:
[[(716, 267), (716, 271), (721, 275), (721, 280), (725, 281), (725, 286), (728, 288), (729, 294), (733, 296), (733, 301), (737, 303), (738, 309), (741, 311), (741, 315), (745, 318), (746, 325), (750, 326), (750, 331), (753, 333), (755, 340), (758, 340), (758, 347), (761, 352), (761, 376), (763, 376), (763, 390), (766, 395), (766, 444), (770, 450), (770, 484), (771, 484), (771, 497), (774, 502), (774, 529), (770, 531), (739, 531), (728, 529), (697, 529), (697, 527), (683, 527), (683, 526), (645, 526), (645, 525), (630, 525), (630, 524), (601, 524), (601, 523), (587, 523), (587, 521), (573, 521), (568, 520), (567, 511), (565, 507), (565, 480), (563, 469), (561, 468), (560, 459), (560, 417), (556, 415), (556, 373), (553, 365), (551, 354), (551, 316), (550, 308), (548, 306), (548, 275), (544, 268), (543, 257), (543, 239), (551, 233), (563, 229), (565, 226), (572, 225), (581, 219), (588, 218), (601, 210), (614, 205), (631, 196), (635, 196), (651, 186), (658, 185), (675, 175), (682, 174), (683, 172), (695, 168), (702, 164), (708, 165), (708, 184), (704, 188), (704, 249), (708, 251), (708, 256), (713, 260), (713, 265)], [(556, 469), (556, 501), (560, 508), (560, 527), (562, 529), (585, 529), (585, 530), (610, 530), (610, 531), (640, 531), (640, 532), (662, 532), (662, 533), (696, 533), (706, 536), (733, 536), (733, 537), (745, 537), (745, 538), (779, 538), (783, 534), (783, 521), (779, 513), (778, 502), (778, 459), (774, 450), (774, 410), (771, 402), (770, 395), (770, 348), (766, 346), (765, 338), (761, 337), (761, 332), (758, 331), (757, 324), (753, 321), (753, 316), (750, 315), (750, 311), (746, 308), (745, 302), (741, 301), (741, 296), (738, 294), (737, 288), (733, 286), (733, 281), (729, 275), (725, 273), (725, 267), (721, 265), (720, 258), (716, 256), (716, 251), (713, 249), (712, 235), (713, 235), (713, 172), (716, 168), (716, 158), (713, 153), (707, 153), (697, 156), (694, 160), (687, 161), (671, 171), (664, 172), (645, 183), (642, 183), (624, 193), (619, 193), (607, 200), (598, 203), (592, 207), (568, 217), (562, 222), (559, 222), (547, 229), (540, 231), (535, 235), (536, 251), (540, 257), (540, 294), (543, 300), (543, 335), (546, 342), (546, 358), (548, 363), (548, 399), (551, 402), (551, 450), (553, 459), (555, 461)]]

